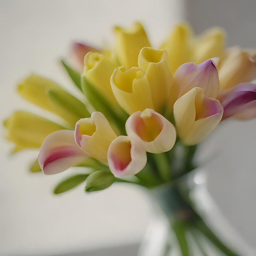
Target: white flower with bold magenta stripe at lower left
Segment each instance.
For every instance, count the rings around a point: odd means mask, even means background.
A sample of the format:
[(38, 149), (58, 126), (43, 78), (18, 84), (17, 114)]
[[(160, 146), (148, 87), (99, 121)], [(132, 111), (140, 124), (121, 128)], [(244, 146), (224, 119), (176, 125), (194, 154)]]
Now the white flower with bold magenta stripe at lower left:
[(38, 163), (45, 174), (56, 174), (86, 158), (88, 155), (76, 145), (74, 131), (59, 130), (50, 134), (43, 142)]

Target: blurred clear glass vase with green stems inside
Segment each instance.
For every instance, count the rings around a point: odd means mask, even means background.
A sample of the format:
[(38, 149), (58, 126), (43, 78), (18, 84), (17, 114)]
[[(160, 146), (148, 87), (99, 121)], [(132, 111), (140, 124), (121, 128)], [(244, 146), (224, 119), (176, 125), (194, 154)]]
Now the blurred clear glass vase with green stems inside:
[[(216, 235), (218, 232), (210, 225), (211, 215), (217, 211), (206, 189), (206, 180), (206, 173), (195, 169), (149, 190), (155, 214), (139, 256), (245, 255), (234, 249), (227, 236)], [(224, 222), (222, 219), (219, 223)], [(225, 223), (223, 227), (226, 233), (234, 235), (229, 225)]]

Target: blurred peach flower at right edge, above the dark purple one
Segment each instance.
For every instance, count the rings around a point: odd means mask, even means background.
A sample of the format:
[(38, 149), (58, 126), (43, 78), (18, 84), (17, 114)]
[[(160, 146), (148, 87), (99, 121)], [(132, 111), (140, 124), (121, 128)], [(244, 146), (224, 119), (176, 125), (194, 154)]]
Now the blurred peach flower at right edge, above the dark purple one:
[(226, 58), (220, 62), (218, 71), (221, 92), (238, 83), (251, 82), (256, 78), (256, 54), (232, 47)]

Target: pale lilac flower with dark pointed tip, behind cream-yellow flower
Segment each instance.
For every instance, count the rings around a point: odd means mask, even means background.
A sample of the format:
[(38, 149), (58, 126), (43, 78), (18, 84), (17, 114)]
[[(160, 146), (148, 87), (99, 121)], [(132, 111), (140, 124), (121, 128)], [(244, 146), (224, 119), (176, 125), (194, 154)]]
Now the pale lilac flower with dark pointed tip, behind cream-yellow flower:
[(174, 84), (179, 88), (179, 98), (192, 88), (200, 87), (205, 97), (215, 99), (219, 90), (218, 70), (210, 59), (199, 65), (185, 63), (177, 69)]

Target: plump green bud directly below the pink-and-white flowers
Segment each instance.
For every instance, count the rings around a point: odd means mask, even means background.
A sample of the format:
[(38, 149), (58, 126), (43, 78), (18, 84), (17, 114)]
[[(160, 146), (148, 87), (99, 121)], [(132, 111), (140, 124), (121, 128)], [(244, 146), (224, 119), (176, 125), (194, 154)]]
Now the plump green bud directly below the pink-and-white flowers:
[(96, 171), (88, 176), (85, 191), (99, 191), (106, 189), (115, 181), (115, 176), (109, 171)]

